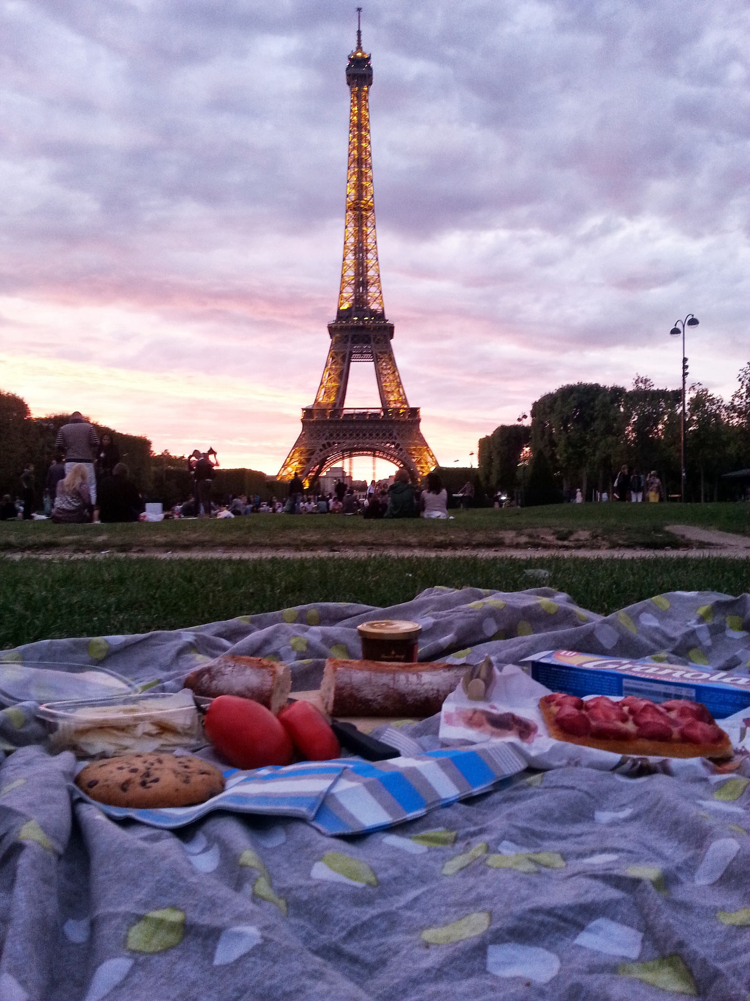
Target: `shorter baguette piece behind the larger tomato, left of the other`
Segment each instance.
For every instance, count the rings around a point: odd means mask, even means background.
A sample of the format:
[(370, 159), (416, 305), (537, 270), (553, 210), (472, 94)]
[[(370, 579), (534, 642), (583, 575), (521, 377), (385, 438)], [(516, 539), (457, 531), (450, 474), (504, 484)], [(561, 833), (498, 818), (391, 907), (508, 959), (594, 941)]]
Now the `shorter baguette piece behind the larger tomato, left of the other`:
[(292, 679), (286, 664), (266, 661), (262, 657), (224, 654), (189, 674), (185, 687), (207, 699), (220, 695), (252, 699), (275, 716), (287, 704)]

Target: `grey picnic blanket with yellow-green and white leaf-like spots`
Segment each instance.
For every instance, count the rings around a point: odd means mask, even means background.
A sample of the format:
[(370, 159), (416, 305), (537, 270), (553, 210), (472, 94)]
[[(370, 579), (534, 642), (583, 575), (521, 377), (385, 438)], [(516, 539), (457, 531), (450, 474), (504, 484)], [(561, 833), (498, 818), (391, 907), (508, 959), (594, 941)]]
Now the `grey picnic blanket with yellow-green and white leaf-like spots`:
[[(359, 623), (386, 617), (421, 623), (420, 660), (564, 648), (739, 673), (750, 662), (747, 595), (672, 593), (602, 618), (549, 588), (311, 604), (44, 641), (0, 662), (100, 665), (177, 691), (232, 651), (285, 661), (302, 690), (326, 657), (360, 655)], [(0, 713), (0, 1001), (750, 993), (742, 768), (518, 771), (365, 834), (230, 812), (164, 830), (73, 796), (75, 761), (43, 749), (29, 696)], [(441, 752), (437, 717), (400, 733)]]

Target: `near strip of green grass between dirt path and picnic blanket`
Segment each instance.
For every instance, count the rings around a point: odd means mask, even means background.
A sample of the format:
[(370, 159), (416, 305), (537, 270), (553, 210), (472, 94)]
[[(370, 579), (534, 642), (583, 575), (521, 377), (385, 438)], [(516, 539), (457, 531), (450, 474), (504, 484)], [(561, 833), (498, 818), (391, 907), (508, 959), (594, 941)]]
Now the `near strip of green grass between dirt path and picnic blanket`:
[(519, 591), (539, 586), (525, 576), (530, 568), (548, 570), (544, 583), (603, 615), (666, 591), (750, 591), (749, 561), (712, 557), (0, 560), (0, 649), (179, 629), (309, 602), (384, 607), (434, 585)]

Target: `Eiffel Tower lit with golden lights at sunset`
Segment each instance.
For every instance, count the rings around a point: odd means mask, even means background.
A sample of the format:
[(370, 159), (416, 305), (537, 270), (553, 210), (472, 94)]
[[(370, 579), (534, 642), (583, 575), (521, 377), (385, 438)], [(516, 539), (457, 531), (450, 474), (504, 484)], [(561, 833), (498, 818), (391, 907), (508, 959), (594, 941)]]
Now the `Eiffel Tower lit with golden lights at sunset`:
[[(383, 307), (370, 149), (372, 66), (369, 53), (362, 50), (360, 11), (358, 7), (357, 47), (346, 67), (349, 164), (338, 311), (328, 324), (331, 345), (315, 402), (303, 407), (302, 430), (277, 475), (291, 479), (297, 472), (306, 484), (353, 455), (387, 459), (406, 468), (415, 481), (437, 465), (419, 427), (419, 407), (409, 406), (406, 398), (391, 346), (393, 323)], [(375, 365), (378, 409), (344, 406), (354, 361)]]

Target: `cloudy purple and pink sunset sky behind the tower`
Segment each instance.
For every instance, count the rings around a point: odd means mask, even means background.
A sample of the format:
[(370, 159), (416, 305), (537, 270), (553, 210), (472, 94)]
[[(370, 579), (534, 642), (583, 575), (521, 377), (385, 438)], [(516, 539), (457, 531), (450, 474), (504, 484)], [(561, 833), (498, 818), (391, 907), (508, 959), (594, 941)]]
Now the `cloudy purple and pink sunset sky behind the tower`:
[[(746, 0), (360, 0), (386, 313), (445, 464), (750, 358)], [(275, 472), (334, 318), (344, 0), (4, 0), (0, 388)], [(347, 405), (375, 402), (354, 367)]]

